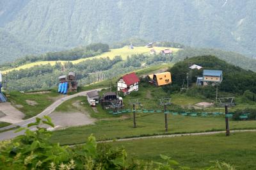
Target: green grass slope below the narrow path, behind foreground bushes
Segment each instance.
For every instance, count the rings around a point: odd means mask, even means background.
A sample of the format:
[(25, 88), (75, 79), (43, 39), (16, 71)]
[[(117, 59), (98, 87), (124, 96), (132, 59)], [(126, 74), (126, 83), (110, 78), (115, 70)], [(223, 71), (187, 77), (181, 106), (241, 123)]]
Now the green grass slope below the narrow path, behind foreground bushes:
[(116, 141), (111, 146), (124, 146), (128, 157), (163, 162), (159, 154), (172, 157), (182, 166), (196, 169), (214, 165), (219, 160), (236, 169), (256, 169), (256, 132), (166, 137)]

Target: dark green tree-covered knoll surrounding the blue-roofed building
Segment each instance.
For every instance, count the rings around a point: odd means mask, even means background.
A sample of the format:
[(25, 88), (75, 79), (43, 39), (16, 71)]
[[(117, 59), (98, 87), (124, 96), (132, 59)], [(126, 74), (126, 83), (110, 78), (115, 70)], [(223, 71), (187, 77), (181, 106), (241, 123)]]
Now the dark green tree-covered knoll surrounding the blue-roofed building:
[[(200, 65), (204, 68), (200, 70), (190, 70), (190, 65)], [(214, 56), (198, 56), (194, 58), (185, 59), (180, 61), (170, 68), (172, 73), (172, 88), (177, 91), (180, 90), (180, 87), (186, 80), (187, 73), (191, 77), (189, 79), (189, 86), (194, 86), (197, 77), (202, 77), (204, 69), (208, 70), (222, 70), (223, 71), (223, 81), (219, 86), (220, 91), (226, 93), (233, 93), (237, 95), (243, 95), (244, 93), (252, 93), (252, 96), (256, 94), (256, 73), (250, 70), (244, 70), (238, 66), (230, 65), (227, 62), (218, 59)], [(167, 89), (167, 88), (166, 88)], [(209, 91), (207, 91), (207, 89)], [(171, 90), (172, 91), (172, 90)], [(215, 88), (214, 87), (194, 87), (191, 89), (194, 94), (202, 93), (206, 97), (214, 98), (215, 97)], [(208, 92), (208, 93), (207, 93)], [(251, 98), (253, 99), (253, 97)]]

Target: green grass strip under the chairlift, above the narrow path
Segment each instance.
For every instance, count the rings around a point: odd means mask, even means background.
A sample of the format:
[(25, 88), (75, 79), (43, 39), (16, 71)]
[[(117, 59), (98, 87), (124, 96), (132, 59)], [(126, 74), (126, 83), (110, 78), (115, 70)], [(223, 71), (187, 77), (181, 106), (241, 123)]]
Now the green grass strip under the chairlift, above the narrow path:
[[(138, 114), (137, 128), (133, 128), (131, 114), (125, 120), (102, 120), (95, 125), (70, 127), (53, 132), (51, 141), (60, 144), (85, 143), (90, 134), (98, 140), (138, 137), (158, 134), (180, 134), (225, 130), (224, 117), (191, 117), (168, 114), (168, 133), (164, 132), (164, 114)], [(230, 130), (256, 128), (256, 121), (230, 121)]]

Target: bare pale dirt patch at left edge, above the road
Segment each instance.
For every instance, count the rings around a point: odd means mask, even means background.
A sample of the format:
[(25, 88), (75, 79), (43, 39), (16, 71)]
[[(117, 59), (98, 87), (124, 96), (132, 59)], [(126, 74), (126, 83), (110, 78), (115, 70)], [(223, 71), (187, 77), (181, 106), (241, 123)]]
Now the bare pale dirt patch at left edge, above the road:
[(0, 103), (0, 112), (5, 115), (1, 116), (0, 121), (8, 123), (19, 123), (24, 121), (22, 120), (25, 116), (24, 113), (13, 107), (9, 102)]

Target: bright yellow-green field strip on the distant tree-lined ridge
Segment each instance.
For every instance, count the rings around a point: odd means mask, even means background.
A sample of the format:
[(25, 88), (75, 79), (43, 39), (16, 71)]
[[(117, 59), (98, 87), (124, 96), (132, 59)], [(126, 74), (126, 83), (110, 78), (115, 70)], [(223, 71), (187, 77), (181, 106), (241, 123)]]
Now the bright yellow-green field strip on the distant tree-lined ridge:
[[(147, 53), (149, 54), (150, 49), (152, 48), (147, 48), (147, 47), (134, 47), (134, 49), (128, 49), (127, 46), (122, 47), (120, 49), (111, 49), (109, 52), (104, 52), (103, 54), (100, 54), (99, 56), (94, 56), (91, 58), (82, 58), (82, 59), (77, 59), (74, 61), (70, 61), (73, 64), (77, 64), (80, 63), (82, 61), (86, 61), (88, 59), (95, 59), (95, 58), (107, 58), (109, 57), (110, 59), (113, 59), (115, 56), (121, 56), (122, 59), (126, 59), (127, 56), (131, 56), (132, 54), (144, 54)], [(171, 49), (174, 53), (177, 52), (180, 49), (176, 49), (176, 48), (170, 48), (170, 47), (154, 47), (154, 49), (156, 50), (156, 52), (158, 53), (160, 50), (164, 50), (164, 49)], [(67, 62), (67, 61), (57, 61), (60, 62), (61, 64)], [(6, 72), (11, 72), (12, 70), (20, 70), (20, 69), (26, 69), (26, 68), (31, 68), (33, 66), (36, 65), (55, 65), (56, 61), (36, 61), (34, 63), (28, 63), (26, 65), (22, 65), (22, 66), (18, 66), (17, 68), (11, 68), (8, 70), (4, 70), (2, 73), (6, 73)]]

